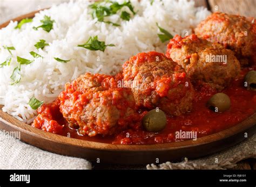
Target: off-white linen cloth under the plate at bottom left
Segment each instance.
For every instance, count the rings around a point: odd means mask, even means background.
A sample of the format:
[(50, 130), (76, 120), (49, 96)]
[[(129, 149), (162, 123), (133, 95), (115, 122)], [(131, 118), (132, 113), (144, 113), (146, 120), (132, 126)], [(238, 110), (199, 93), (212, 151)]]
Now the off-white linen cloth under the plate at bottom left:
[(0, 131), (0, 169), (91, 169), (91, 163), (30, 146)]

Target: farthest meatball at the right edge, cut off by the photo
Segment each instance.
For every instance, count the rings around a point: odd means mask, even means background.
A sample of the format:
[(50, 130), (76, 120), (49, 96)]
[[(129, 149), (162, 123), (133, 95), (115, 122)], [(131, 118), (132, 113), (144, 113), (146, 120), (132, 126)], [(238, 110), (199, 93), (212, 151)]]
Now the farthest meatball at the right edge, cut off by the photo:
[(241, 66), (256, 63), (254, 19), (215, 12), (196, 27), (195, 33), (199, 38), (218, 42), (234, 51)]

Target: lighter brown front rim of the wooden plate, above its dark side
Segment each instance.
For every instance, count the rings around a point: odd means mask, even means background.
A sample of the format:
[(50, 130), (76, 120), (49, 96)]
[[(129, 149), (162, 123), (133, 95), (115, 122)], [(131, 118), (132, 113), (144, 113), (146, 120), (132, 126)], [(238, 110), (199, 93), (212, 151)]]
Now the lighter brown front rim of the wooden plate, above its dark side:
[[(100, 142), (94, 142), (94, 141), (87, 141), (87, 140), (79, 140), (79, 139), (73, 139), (68, 138), (66, 136), (53, 134), (49, 132), (45, 132), (42, 130), (39, 130), (37, 128), (31, 127), (28, 124), (23, 123), (22, 121), (19, 121), (18, 119), (11, 117), (9, 114), (3, 112), (0, 110), (0, 122), (7, 124), (18, 131), (29, 133), (33, 136), (40, 135), (44, 139), (48, 139), (51, 141), (56, 141), (59, 143), (65, 143), (73, 146), (79, 146), (84, 148), (93, 148), (93, 149), (107, 149), (107, 150), (126, 150), (131, 152), (136, 151), (158, 151), (158, 150), (171, 150), (176, 148), (185, 148), (185, 147), (196, 147), (198, 145), (204, 145), (207, 143), (211, 143), (213, 141), (218, 141), (224, 138), (227, 138), (229, 136), (232, 136), (234, 134), (238, 134), (240, 132), (246, 131), (248, 128), (251, 128), (255, 125), (256, 121), (256, 113), (254, 113), (249, 118), (242, 121), (240, 124), (235, 125), (231, 128), (228, 128), (224, 131), (214, 133), (211, 135), (203, 136), (201, 138), (198, 138), (196, 141), (194, 140), (186, 140), (186, 141), (179, 141), (179, 142), (169, 142), (169, 143), (156, 143), (152, 145), (113, 145), (110, 143), (100, 143)], [(238, 131), (239, 130), (239, 131)], [(234, 133), (235, 132), (235, 133)]]

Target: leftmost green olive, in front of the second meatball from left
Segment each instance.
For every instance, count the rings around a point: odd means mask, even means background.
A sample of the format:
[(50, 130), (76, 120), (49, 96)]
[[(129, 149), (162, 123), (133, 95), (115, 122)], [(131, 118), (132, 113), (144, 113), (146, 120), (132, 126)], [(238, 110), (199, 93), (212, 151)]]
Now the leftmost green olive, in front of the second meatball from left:
[(149, 132), (159, 132), (166, 126), (165, 113), (159, 109), (153, 109), (143, 117), (142, 124)]

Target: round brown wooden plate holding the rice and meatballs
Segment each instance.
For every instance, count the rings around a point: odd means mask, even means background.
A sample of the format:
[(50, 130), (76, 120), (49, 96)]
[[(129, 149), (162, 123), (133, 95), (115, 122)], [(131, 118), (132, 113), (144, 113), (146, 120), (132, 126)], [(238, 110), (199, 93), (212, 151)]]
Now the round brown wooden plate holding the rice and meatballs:
[[(38, 11), (13, 20), (32, 18)], [(6, 22), (0, 28), (7, 26)], [(154, 145), (112, 145), (92, 141), (72, 139), (33, 128), (0, 110), (0, 128), (5, 131), (21, 132), (21, 140), (30, 145), (53, 153), (83, 157), (100, 163), (147, 164), (180, 160), (183, 157), (193, 159), (223, 150), (241, 142), (256, 132), (256, 113), (242, 123), (225, 131), (198, 138), (196, 141), (158, 143)]]

